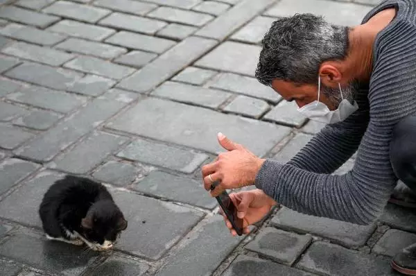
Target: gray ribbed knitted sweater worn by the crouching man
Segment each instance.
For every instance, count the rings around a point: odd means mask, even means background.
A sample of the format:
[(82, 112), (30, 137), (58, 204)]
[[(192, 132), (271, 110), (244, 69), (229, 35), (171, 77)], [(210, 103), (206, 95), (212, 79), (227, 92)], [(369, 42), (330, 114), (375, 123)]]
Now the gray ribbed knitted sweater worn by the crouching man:
[[(397, 15), (376, 37), (370, 84), (356, 98), (359, 109), (323, 128), (288, 163), (267, 159), (257, 174), (256, 187), (281, 205), (361, 225), (385, 207), (397, 183), (389, 158), (392, 128), (416, 114), (416, 1), (383, 1), (363, 23), (391, 7)], [(331, 175), (355, 152), (352, 171)]]

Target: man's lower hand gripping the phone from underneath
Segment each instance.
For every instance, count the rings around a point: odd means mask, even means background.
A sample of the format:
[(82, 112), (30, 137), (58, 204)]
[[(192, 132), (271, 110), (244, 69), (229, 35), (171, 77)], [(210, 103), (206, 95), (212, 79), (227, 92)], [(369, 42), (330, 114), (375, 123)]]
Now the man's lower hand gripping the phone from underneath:
[[(234, 205), (236, 205), (239, 218), (243, 219), (244, 234), (248, 234), (250, 232), (248, 229), (249, 225), (261, 221), (261, 219), (266, 216), (268, 212), (270, 212), (272, 206), (277, 204), (275, 200), (270, 198), (260, 189), (231, 193), (229, 197), (232, 202), (234, 202)], [(232, 224), (228, 221), (228, 218), (225, 216), (222, 209), (220, 209), (220, 214), (223, 215), (225, 225), (227, 225), (229, 232), (231, 232), (233, 236), (236, 236), (236, 230), (234, 230)]]

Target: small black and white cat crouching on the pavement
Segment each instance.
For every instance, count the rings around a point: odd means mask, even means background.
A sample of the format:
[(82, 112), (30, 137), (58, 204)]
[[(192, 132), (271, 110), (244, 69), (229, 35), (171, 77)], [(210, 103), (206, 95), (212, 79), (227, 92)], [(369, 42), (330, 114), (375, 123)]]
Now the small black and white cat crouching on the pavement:
[(103, 184), (66, 175), (55, 181), (40, 204), (46, 238), (92, 250), (108, 250), (128, 222)]

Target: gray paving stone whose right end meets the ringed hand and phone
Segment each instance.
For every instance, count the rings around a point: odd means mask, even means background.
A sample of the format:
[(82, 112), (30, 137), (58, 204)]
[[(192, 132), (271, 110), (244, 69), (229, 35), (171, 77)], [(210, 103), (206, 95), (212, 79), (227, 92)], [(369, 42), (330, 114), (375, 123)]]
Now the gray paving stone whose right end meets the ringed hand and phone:
[(214, 209), (215, 198), (202, 187), (202, 182), (184, 178), (163, 171), (153, 171), (132, 189), (148, 195), (166, 198), (175, 202), (187, 203), (206, 209)]

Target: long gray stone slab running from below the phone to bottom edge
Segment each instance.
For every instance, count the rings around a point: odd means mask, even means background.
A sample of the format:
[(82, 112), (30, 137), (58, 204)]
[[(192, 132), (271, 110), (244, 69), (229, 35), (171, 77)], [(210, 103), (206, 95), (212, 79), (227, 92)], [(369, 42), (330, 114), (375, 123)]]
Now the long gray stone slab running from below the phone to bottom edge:
[(242, 239), (230, 236), (222, 216), (211, 216), (183, 240), (156, 275), (211, 275)]

